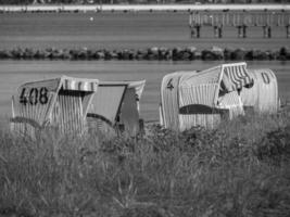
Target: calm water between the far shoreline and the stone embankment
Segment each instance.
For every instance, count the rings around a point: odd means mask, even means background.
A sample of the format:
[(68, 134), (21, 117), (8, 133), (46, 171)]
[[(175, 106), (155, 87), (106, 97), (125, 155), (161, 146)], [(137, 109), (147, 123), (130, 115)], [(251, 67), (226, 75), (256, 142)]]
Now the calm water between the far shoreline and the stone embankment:
[[(90, 18), (93, 17), (93, 21)], [(248, 38), (238, 39), (237, 29), (224, 29), (224, 38), (213, 37), (212, 27), (202, 27), (200, 39), (189, 38), (188, 13), (14, 13), (0, 14), (0, 49), (106, 48), (218, 46), (222, 48), (279, 49), (290, 44), (285, 27), (273, 28), (264, 39), (262, 27), (251, 27)]]

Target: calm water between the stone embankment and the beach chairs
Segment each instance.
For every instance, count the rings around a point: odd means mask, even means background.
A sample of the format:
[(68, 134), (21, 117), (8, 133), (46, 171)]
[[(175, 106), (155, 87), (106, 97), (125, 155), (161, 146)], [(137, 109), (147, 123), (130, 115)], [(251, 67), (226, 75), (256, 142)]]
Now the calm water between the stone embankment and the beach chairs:
[[(25, 82), (61, 75), (101, 80), (139, 80), (147, 85), (141, 99), (141, 116), (159, 118), (162, 77), (176, 71), (201, 71), (222, 62), (154, 62), (154, 61), (0, 61), (0, 114), (10, 116), (11, 95)], [(249, 68), (272, 68), (276, 72), (279, 95), (290, 99), (290, 62), (249, 62)]]

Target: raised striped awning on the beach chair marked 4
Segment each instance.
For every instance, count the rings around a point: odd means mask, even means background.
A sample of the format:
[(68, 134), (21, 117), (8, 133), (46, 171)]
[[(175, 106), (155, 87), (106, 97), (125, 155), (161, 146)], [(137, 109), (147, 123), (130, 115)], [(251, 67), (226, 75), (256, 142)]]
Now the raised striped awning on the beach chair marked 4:
[(228, 92), (241, 89), (253, 80), (247, 71), (245, 64), (224, 65), (223, 72), (223, 85)]

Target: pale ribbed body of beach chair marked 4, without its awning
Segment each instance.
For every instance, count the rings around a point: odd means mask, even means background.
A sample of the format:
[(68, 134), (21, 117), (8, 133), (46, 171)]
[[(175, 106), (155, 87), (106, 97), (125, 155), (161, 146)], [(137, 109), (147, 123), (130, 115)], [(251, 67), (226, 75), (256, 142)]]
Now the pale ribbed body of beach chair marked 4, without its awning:
[(185, 115), (179, 113), (179, 108), (192, 104), (214, 106), (220, 69), (218, 66), (200, 73), (192, 71), (166, 75), (161, 88), (161, 124), (166, 128), (184, 130), (196, 125), (211, 128), (213, 123), (217, 123), (216, 117), (216, 117), (209, 114)]

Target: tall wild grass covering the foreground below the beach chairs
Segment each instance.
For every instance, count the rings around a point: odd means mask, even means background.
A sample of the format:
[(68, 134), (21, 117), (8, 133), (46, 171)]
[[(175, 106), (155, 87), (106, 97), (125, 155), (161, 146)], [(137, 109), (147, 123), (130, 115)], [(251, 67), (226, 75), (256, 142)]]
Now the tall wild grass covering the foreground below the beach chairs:
[(18, 138), (1, 122), (0, 216), (289, 216), (290, 110), (216, 130)]

